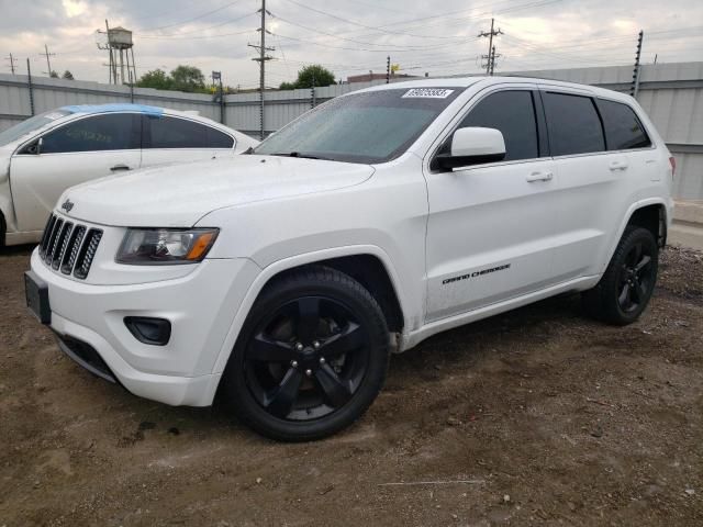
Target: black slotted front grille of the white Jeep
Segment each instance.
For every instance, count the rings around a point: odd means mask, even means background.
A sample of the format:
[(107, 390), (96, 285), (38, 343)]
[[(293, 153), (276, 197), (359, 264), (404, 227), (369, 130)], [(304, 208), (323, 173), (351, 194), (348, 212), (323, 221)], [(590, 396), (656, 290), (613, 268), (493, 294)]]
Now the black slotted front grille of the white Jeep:
[(102, 231), (64, 221), (52, 214), (40, 244), (44, 262), (64, 274), (85, 280), (96, 257)]

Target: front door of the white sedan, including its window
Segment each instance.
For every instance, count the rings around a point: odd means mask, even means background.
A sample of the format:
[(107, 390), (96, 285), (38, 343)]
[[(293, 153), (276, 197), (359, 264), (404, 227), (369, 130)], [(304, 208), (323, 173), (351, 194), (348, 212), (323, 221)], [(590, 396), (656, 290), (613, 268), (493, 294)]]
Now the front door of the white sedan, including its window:
[(140, 115), (88, 115), (51, 130), (10, 161), (12, 200), (22, 232), (41, 231), (69, 187), (140, 168)]

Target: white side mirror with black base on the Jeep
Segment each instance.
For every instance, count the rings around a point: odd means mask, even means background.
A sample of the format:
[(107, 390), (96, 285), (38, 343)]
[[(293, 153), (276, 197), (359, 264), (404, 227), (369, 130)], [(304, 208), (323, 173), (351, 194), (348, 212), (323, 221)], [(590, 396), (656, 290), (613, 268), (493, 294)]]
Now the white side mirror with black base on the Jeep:
[(504, 158), (505, 139), (500, 130), (470, 126), (454, 133), (450, 152), (438, 154), (437, 162), (442, 168), (451, 169)]

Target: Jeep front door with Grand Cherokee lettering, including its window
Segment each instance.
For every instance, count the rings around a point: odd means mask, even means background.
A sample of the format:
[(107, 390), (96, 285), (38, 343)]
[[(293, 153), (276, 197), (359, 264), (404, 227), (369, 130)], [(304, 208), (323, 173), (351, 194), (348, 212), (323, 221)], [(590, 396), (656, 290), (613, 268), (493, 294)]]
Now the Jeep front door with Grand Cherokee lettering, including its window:
[(536, 97), (490, 93), (459, 124), (500, 130), (503, 161), (427, 175), (427, 322), (549, 284), (558, 195)]

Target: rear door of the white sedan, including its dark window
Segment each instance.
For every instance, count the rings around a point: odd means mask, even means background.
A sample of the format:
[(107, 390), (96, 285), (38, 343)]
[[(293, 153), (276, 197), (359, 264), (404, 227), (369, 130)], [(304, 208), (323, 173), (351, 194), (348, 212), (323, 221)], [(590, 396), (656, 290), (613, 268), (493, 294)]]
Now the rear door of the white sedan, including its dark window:
[(235, 139), (198, 121), (175, 115), (144, 115), (142, 166), (233, 156)]

